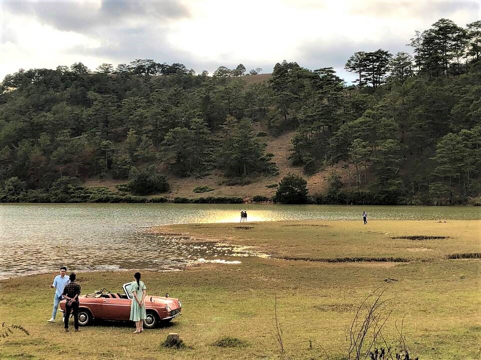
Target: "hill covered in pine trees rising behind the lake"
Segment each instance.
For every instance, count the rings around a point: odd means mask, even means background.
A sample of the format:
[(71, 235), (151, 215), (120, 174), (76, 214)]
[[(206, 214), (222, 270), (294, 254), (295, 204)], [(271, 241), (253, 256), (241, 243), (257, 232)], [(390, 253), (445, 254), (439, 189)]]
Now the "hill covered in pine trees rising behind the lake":
[(294, 172), (319, 203), (469, 202), (481, 188), (481, 21), (440, 19), (410, 41), (413, 57), (346, 59), (351, 86), (286, 61), (271, 75), (149, 59), (21, 69), (1, 88), (0, 201), (271, 196)]

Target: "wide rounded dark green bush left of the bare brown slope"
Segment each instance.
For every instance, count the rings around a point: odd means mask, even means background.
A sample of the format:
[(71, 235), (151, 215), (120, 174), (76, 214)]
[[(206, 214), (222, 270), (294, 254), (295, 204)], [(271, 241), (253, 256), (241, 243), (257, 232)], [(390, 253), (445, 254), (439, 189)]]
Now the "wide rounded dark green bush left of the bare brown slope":
[(167, 178), (157, 173), (154, 166), (146, 169), (133, 168), (130, 174), (129, 188), (137, 195), (147, 195), (169, 190)]

